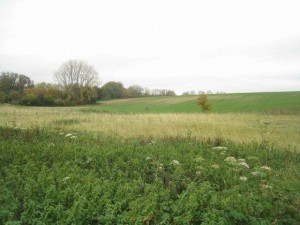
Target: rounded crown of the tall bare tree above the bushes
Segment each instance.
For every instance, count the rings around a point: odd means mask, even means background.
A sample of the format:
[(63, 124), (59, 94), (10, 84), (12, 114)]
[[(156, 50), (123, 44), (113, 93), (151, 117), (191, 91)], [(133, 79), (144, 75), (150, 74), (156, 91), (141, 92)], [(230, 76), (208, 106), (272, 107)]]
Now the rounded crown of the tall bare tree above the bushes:
[(54, 73), (58, 84), (67, 88), (70, 85), (93, 87), (99, 83), (96, 69), (81, 60), (69, 60)]

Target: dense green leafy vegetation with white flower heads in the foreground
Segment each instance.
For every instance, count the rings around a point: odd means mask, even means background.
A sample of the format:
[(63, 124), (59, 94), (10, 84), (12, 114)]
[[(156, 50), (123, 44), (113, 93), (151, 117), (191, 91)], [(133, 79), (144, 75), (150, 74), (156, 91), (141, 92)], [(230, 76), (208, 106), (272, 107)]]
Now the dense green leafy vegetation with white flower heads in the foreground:
[(267, 143), (6, 127), (0, 143), (1, 224), (300, 222), (300, 154)]

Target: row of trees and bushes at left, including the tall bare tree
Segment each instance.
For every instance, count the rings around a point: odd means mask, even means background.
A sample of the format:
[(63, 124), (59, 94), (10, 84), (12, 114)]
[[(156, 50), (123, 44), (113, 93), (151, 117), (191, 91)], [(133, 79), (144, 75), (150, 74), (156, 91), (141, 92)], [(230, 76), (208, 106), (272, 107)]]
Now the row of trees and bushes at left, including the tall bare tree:
[(28, 76), (13, 72), (0, 75), (0, 103), (31, 106), (72, 106), (93, 104), (97, 100), (144, 96), (174, 96), (168, 89), (125, 88), (121, 82), (110, 81), (99, 87), (99, 74), (88, 63), (69, 60), (54, 73), (55, 83), (34, 84)]

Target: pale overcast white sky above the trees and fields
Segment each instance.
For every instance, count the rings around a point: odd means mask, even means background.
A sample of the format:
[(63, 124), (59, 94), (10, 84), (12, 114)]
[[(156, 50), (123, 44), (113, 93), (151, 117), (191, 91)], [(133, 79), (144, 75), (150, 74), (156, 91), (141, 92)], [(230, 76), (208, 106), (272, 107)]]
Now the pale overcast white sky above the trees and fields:
[(102, 84), (299, 91), (299, 9), (299, 0), (0, 0), (0, 72), (53, 82), (64, 61), (82, 59)]

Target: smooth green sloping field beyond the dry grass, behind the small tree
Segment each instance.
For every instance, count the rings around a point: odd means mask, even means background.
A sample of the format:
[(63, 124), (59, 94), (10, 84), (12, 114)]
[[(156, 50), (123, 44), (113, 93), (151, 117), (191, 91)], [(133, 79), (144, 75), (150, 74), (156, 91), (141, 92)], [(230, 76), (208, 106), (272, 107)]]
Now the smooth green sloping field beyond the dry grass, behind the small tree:
[[(197, 96), (144, 97), (100, 102), (84, 109), (92, 112), (116, 113), (195, 113), (201, 112)], [(240, 93), (209, 95), (211, 112), (273, 112), (300, 111), (300, 92)]]

